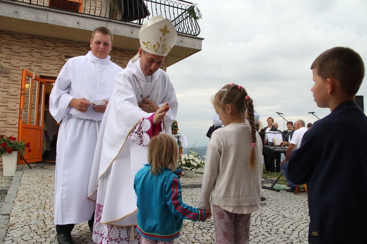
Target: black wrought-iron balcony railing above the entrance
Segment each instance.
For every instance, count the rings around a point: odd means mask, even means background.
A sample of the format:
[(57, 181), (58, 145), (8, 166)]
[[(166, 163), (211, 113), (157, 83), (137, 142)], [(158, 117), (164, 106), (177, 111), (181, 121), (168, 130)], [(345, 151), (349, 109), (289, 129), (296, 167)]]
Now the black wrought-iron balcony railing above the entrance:
[(144, 21), (162, 15), (171, 20), (178, 33), (198, 36), (197, 19), (187, 11), (192, 3), (184, 0), (15, 0), (31, 5), (61, 9), (109, 20), (142, 25)]

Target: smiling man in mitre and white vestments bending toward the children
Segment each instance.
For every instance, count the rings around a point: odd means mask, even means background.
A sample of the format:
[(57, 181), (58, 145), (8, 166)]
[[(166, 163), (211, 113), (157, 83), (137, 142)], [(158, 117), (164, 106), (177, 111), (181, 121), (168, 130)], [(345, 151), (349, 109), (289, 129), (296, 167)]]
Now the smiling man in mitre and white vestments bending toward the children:
[(117, 74), (94, 155), (89, 198), (96, 201), (95, 243), (141, 243), (136, 231), (134, 177), (147, 163), (147, 146), (158, 133), (171, 134), (178, 102), (160, 69), (177, 33), (161, 15), (139, 31), (138, 54)]

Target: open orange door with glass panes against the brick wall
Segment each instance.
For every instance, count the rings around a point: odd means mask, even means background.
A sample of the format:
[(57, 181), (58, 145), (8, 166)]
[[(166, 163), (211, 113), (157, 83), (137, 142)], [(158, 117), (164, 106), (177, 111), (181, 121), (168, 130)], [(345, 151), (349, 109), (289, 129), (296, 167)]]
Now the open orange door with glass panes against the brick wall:
[[(31, 153), (24, 155), (28, 163), (42, 160), (45, 87), (45, 80), (27, 70), (22, 70), (18, 137), (30, 143)], [(18, 163), (24, 161), (18, 160)]]

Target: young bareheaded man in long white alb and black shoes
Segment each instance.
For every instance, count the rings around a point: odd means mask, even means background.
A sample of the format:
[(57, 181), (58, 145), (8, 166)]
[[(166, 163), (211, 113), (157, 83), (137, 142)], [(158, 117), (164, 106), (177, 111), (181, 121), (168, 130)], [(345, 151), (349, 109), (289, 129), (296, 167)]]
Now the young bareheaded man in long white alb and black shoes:
[(74, 243), (75, 223), (89, 221), (92, 227), (95, 203), (87, 197), (97, 134), (115, 76), (122, 70), (110, 61), (112, 41), (108, 28), (96, 28), (91, 51), (66, 62), (50, 94), (49, 111), (62, 121), (56, 146), (54, 216), (60, 244)]

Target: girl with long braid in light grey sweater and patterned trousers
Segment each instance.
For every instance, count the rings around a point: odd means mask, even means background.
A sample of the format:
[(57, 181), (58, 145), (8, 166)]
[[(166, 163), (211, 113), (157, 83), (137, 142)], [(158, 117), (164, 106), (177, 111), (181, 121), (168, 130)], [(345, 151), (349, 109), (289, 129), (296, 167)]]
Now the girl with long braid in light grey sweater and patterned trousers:
[(209, 210), (210, 201), (213, 204), (217, 243), (249, 243), (262, 177), (262, 142), (252, 99), (232, 83), (215, 94), (213, 105), (225, 127), (213, 132), (209, 141), (198, 208)]

